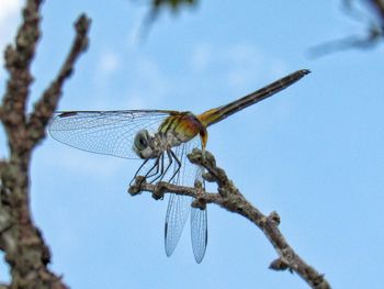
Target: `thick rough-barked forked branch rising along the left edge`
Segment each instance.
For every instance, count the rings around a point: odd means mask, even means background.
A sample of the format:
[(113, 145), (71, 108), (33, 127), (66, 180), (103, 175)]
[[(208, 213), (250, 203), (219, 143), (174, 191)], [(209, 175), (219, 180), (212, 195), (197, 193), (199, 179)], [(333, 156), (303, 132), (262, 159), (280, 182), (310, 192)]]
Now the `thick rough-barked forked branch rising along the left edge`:
[(0, 107), (10, 156), (0, 160), (0, 249), (11, 268), (11, 284), (2, 288), (67, 288), (61, 277), (52, 273), (49, 248), (32, 221), (30, 209), (30, 164), (35, 145), (45, 136), (45, 126), (70, 76), (74, 64), (87, 47), (90, 20), (81, 15), (76, 23), (76, 38), (58, 76), (37, 101), (32, 116), (25, 107), (33, 77), (31, 63), (39, 37), (42, 1), (27, 0), (23, 23), (15, 44), (5, 49), (5, 67), (10, 74)]

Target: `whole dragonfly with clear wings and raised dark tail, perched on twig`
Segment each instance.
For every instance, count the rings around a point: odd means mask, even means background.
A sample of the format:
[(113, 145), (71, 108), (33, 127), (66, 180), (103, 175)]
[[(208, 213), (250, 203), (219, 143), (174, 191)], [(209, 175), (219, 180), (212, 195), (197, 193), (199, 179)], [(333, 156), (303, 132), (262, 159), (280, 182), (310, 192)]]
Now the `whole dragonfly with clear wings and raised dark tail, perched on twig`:
[[(203, 184), (203, 168), (187, 160), (193, 148), (203, 152), (207, 144), (207, 127), (229, 115), (287, 88), (305, 75), (294, 71), (250, 95), (201, 114), (176, 110), (58, 111), (48, 131), (57, 141), (76, 148), (143, 163), (133, 180), (143, 176), (157, 184)], [(172, 255), (184, 224), (191, 214), (192, 251), (196, 263), (204, 258), (207, 245), (206, 208), (193, 208), (193, 199), (170, 194), (165, 222), (165, 248)]]

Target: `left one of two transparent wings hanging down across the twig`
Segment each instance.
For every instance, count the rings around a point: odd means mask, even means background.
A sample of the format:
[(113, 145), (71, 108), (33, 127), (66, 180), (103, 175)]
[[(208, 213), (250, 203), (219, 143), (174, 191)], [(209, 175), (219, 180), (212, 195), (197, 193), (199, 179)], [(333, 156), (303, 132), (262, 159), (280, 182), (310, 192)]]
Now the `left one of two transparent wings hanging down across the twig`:
[[(196, 136), (188, 143), (184, 143), (174, 149), (174, 154), (181, 162), (181, 169), (177, 177), (172, 180), (176, 185), (193, 187), (196, 178), (200, 179), (201, 170), (197, 166), (192, 165), (187, 155), (192, 152), (194, 147), (201, 147), (200, 137)], [(173, 171), (177, 169), (174, 164)], [(166, 225), (165, 225), (165, 245), (166, 254), (170, 256), (181, 236), (184, 229), (185, 221), (191, 211), (192, 198), (187, 196), (171, 194), (168, 202)]]

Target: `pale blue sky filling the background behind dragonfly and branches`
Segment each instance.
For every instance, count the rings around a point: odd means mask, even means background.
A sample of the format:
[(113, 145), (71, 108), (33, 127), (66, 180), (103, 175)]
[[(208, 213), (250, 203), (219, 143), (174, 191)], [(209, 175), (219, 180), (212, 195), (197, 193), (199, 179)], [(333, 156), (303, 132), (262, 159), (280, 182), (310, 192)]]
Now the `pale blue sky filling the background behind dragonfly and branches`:
[[(310, 59), (309, 47), (362, 34), (340, 1), (200, 1), (163, 13), (145, 41), (140, 1), (46, 1), (31, 103), (56, 74), (80, 12), (90, 47), (65, 86), (60, 110), (202, 112), (291, 71), (305, 79), (210, 127), (207, 148), (241, 192), (275, 210), (289, 243), (334, 288), (382, 288), (384, 256), (383, 46)], [(20, 1), (0, 1), (0, 45)], [(4, 88), (0, 73), (0, 90)], [(1, 156), (7, 155), (0, 133)], [(268, 269), (276, 254), (250, 222), (208, 207), (208, 247), (192, 255), (189, 227), (163, 249), (166, 201), (132, 198), (138, 162), (83, 153), (47, 138), (32, 164), (35, 222), (52, 267), (72, 288), (307, 288)], [(8, 277), (1, 266), (0, 278)]]

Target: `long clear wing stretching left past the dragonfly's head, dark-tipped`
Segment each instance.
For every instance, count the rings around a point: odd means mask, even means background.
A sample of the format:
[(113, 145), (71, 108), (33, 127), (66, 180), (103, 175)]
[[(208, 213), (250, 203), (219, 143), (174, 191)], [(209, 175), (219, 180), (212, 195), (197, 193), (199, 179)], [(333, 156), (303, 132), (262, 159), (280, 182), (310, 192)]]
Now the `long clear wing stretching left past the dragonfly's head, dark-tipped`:
[(137, 158), (132, 146), (139, 130), (156, 131), (174, 111), (68, 111), (55, 113), (48, 131), (76, 148), (123, 158)]

